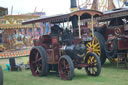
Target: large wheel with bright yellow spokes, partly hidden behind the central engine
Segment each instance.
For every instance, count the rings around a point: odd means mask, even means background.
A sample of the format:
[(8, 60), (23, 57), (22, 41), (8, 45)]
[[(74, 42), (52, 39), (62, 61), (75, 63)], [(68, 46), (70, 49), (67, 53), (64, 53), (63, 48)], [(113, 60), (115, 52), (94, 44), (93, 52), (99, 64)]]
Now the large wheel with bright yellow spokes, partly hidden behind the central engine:
[(104, 51), (105, 39), (99, 32), (94, 32), (94, 39), (86, 44), (87, 53), (96, 53), (101, 60), (101, 64), (104, 64), (106, 60), (106, 55)]

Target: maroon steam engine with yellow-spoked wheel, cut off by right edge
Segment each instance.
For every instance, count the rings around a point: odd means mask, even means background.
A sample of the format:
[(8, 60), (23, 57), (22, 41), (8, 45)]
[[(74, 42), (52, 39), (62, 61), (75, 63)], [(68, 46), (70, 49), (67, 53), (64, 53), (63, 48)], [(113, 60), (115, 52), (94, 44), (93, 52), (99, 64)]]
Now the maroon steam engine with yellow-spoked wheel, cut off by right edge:
[[(104, 12), (97, 19), (101, 26), (94, 27), (94, 39), (87, 43), (87, 47), (100, 56), (102, 64), (106, 58), (112, 63), (125, 63), (126, 65), (128, 63), (127, 12), (127, 8), (113, 9)], [(97, 47), (95, 47), (96, 45)]]

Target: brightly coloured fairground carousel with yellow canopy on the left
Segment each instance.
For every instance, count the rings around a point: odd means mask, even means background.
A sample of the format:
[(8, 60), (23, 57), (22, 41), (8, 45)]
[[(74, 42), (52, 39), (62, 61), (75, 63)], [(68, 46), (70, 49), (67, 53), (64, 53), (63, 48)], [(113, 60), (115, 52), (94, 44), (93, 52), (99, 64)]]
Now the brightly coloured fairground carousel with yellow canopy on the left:
[(33, 46), (34, 37), (40, 35), (40, 26), (21, 25), (39, 15), (7, 15), (0, 18), (0, 58), (25, 56)]

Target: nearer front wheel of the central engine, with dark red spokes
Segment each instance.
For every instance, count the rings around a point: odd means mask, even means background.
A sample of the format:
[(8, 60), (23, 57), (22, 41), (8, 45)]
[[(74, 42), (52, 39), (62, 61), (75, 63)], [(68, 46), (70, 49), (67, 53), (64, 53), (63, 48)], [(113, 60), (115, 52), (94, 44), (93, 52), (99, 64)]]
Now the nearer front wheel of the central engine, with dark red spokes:
[(72, 80), (74, 77), (74, 65), (68, 55), (64, 55), (59, 59), (58, 71), (60, 78), (63, 80)]

